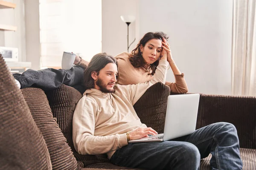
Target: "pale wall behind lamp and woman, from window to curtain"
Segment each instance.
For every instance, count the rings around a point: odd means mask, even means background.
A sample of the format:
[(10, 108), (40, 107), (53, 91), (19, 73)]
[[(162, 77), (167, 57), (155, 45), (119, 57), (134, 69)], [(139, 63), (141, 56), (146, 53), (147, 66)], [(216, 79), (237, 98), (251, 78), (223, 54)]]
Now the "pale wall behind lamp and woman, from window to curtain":
[[(102, 51), (125, 51), (126, 31), (119, 15), (130, 11), (137, 16), (136, 43), (148, 31), (169, 35), (172, 56), (185, 74), (189, 92), (231, 94), (233, 0), (107, 2), (102, 1)], [(171, 69), (167, 80), (174, 81)]]

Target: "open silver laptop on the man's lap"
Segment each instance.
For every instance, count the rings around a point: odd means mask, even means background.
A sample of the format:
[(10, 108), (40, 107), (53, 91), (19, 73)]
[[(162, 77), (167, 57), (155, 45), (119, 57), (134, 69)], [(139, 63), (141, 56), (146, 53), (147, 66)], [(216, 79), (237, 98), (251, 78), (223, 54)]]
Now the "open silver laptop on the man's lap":
[(199, 98), (200, 94), (168, 96), (164, 133), (131, 140), (129, 143), (167, 141), (193, 133), (196, 126)]

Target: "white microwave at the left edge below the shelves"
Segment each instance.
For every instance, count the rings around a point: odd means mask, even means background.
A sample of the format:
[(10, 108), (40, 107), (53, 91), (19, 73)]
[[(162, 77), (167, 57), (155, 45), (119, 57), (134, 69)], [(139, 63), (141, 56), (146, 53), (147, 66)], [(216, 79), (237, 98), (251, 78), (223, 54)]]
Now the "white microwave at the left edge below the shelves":
[(6, 62), (18, 62), (18, 48), (0, 47), (0, 54)]

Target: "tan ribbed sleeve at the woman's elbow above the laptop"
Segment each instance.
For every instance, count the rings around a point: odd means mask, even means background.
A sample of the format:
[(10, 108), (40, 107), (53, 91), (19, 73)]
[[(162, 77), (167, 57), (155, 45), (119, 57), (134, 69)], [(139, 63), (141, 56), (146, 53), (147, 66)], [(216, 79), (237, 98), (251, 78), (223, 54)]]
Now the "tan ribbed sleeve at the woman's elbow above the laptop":
[(184, 74), (175, 74), (175, 82), (167, 82), (166, 85), (168, 85), (171, 89), (171, 93), (187, 93), (189, 91)]

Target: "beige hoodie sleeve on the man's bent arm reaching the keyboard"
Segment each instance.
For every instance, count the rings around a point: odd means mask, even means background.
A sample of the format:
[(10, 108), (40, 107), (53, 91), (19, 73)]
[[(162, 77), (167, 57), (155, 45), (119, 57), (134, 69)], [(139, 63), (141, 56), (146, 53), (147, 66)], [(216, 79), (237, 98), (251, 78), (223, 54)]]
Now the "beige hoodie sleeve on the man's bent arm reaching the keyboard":
[(93, 136), (95, 130), (97, 106), (82, 97), (73, 115), (73, 142), (79, 154), (102, 154), (117, 150), (128, 144), (126, 134), (111, 136)]

